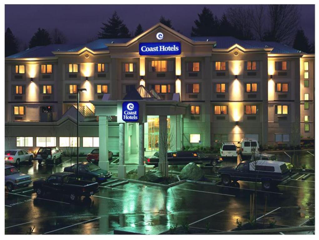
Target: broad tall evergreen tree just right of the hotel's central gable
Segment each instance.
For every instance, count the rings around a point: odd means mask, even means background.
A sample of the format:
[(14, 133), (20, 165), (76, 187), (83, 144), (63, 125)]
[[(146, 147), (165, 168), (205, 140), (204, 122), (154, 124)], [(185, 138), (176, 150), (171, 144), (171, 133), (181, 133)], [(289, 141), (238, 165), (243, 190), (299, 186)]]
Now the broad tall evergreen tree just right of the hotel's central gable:
[(211, 10), (206, 7), (194, 22), (196, 26), (192, 26), (191, 36), (215, 36), (218, 32), (218, 19), (214, 18)]

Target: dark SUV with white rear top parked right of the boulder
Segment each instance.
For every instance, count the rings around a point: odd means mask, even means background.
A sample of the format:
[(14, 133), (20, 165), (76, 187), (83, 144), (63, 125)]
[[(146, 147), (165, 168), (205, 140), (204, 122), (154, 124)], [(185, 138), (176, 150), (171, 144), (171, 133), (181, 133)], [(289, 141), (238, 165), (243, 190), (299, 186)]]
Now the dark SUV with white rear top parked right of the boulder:
[[(256, 171), (255, 171), (256, 164)], [(242, 161), (237, 167), (224, 167), (218, 170), (221, 182), (228, 186), (232, 181), (252, 181), (261, 182), (264, 189), (269, 190), (279, 183), (290, 180), (290, 172), (281, 161), (258, 160)], [(257, 176), (256, 176), (257, 175)], [(284, 184), (284, 183), (283, 183)]]

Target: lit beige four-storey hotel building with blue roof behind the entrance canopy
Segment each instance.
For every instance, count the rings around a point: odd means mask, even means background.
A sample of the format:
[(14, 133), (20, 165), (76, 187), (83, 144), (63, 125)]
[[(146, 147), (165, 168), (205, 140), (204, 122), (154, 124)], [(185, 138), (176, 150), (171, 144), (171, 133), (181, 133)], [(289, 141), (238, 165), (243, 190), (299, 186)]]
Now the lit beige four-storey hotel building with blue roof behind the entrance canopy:
[[(79, 100), (79, 142), (80, 153), (87, 154), (101, 143), (96, 105), (121, 102), (141, 85), (159, 104), (146, 110), (145, 151), (160, 147), (162, 115), (168, 129), (174, 124), (180, 129), (168, 136), (177, 150), (247, 137), (262, 146), (314, 139), (314, 55), (276, 42), (188, 38), (159, 23), (133, 39), (48, 45), (6, 57), (5, 148), (56, 145), (72, 151), (77, 91), (85, 88)], [(176, 94), (183, 110), (163, 113), (161, 104), (171, 104)], [(120, 152), (119, 117), (107, 118), (106, 144), (114, 153)], [(124, 128), (128, 159), (141, 141), (138, 124)]]

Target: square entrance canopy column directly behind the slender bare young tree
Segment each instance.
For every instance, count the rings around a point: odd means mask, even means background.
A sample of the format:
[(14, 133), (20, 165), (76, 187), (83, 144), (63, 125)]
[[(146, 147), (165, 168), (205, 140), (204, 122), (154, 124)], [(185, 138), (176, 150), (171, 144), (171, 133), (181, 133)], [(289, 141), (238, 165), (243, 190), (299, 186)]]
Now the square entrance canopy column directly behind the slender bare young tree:
[(167, 116), (159, 116), (159, 170), (168, 176), (167, 164)]

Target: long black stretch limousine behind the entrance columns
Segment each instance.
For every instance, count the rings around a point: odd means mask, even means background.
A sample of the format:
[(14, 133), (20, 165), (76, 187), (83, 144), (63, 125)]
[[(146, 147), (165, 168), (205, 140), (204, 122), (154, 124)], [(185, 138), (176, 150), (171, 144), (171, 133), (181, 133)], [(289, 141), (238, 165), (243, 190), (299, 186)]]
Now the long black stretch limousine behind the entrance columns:
[[(216, 157), (208, 157), (206, 154), (197, 151), (176, 151), (167, 153), (168, 165), (185, 165), (190, 162), (196, 164), (211, 164), (216, 166), (223, 160)], [(155, 152), (153, 156), (145, 157), (145, 164), (158, 166), (159, 163), (159, 152)]]

